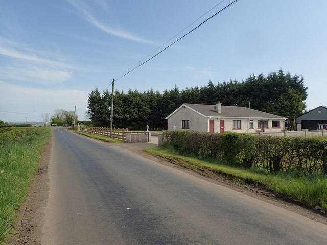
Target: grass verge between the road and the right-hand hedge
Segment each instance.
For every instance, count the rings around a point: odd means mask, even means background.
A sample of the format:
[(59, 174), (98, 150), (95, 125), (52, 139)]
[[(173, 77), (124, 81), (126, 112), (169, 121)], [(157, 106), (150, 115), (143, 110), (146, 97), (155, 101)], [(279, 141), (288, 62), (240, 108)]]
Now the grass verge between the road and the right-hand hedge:
[(306, 174), (301, 170), (268, 173), (263, 169), (243, 169), (178, 155), (169, 147), (144, 149), (151, 155), (165, 158), (199, 174), (214, 174), (245, 185), (261, 186), (275, 193), (327, 210), (327, 176)]

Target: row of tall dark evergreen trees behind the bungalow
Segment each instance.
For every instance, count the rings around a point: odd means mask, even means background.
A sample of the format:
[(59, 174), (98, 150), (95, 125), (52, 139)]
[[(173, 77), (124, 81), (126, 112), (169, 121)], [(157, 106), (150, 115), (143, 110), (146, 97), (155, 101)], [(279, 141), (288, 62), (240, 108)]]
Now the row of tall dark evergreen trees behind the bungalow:
[[(295, 118), (306, 108), (307, 87), (303, 77), (280, 69), (265, 77), (251, 75), (245, 81), (217, 83), (179, 90), (177, 86), (163, 94), (153, 89), (128, 93), (114, 92), (113, 126), (129, 129), (167, 128), (167, 117), (183, 103), (211, 104), (220, 101), (223, 105), (244, 106), (288, 118), (290, 129), (295, 128)], [(94, 126), (110, 125), (111, 93), (93, 90), (88, 97), (89, 119)]]

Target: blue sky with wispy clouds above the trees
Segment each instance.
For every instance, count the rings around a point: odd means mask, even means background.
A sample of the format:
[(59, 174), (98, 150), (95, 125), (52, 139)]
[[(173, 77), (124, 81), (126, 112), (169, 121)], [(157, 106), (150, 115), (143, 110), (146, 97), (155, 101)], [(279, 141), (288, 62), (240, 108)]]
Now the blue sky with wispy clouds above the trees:
[(111, 92), (113, 79), (162, 93), (279, 69), (303, 76), (307, 110), (327, 106), (325, 0), (239, 0), (168, 47), (231, 2), (0, 0), (0, 120), (75, 106), (86, 120), (89, 93)]

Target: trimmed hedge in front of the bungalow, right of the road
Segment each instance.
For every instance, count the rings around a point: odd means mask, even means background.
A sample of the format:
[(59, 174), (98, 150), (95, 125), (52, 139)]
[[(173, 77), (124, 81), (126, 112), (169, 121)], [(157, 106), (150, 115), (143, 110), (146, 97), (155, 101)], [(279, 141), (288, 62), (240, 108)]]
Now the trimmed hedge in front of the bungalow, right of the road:
[(269, 172), (303, 169), (327, 174), (327, 137), (167, 131), (167, 143), (184, 155)]

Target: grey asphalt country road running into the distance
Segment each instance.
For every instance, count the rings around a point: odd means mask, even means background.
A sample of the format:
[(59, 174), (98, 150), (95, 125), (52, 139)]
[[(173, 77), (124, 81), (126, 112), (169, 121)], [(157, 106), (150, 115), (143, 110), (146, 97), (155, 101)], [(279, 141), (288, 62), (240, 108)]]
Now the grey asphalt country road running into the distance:
[(42, 244), (327, 244), (327, 226), (131, 154), (53, 130)]

